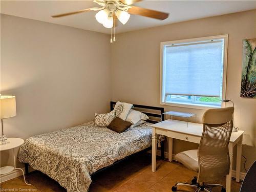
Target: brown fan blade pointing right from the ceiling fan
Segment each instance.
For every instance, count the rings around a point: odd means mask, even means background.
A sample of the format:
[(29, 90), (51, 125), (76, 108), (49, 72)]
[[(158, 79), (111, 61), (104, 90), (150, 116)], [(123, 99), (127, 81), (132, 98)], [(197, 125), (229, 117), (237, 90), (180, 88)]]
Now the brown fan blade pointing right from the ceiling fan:
[(136, 7), (136, 6), (131, 6), (131, 8), (128, 9), (128, 13), (134, 14), (134, 15), (141, 15), (145, 17), (156, 18), (160, 20), (164, 20), (169, 16), (169, 13), (164, 13), (164, 12), (155, 11), (151, 9), (145, 9), (145, 8)]

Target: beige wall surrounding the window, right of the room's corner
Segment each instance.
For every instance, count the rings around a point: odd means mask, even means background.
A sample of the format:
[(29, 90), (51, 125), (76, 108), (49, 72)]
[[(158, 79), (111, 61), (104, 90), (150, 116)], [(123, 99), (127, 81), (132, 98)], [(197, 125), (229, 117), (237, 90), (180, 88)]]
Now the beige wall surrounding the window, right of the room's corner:
[[(228, 34), (226, 98), (235, 103), (236, 126), (246, 131), (243, 155), (247, 158), (248, 168), (256, 160), (256, 99), (240, 97), (242, 40), (256, 38), (256, 10), (116, 35), (118, 40), (111, 46), (112, 100), (163, 106), (159, 104), (160, 42), (223, 34)], [(205, 112), (174, 106), (164, 106), (164, 109), (196, 113), (198, 122), (202, 121)], [(197, 146), (175, 140), (174, 153)]]

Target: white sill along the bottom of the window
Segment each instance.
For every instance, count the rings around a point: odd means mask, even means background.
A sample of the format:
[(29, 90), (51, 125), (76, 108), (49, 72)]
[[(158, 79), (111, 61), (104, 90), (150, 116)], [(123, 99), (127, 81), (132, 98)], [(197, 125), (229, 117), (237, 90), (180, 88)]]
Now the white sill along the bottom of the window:
[(160, 105), (167, 106), (178, 106), (180, 108), (191, 108), (191, 109), (199, 109), (199, 110), (208, 110), (212, 108), (221, 108), (218, 105), (207, 105), (207, 104), (198, 104), (198, 103), (182, 103), (182, 102), (160, 102)]

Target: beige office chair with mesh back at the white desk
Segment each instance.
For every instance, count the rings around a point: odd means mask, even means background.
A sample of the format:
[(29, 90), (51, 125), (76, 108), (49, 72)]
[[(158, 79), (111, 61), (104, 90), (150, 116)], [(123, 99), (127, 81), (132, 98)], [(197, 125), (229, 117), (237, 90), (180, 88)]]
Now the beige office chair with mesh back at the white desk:
[(192, 183), (176, 183), (172, 191), (177, 191), (178, 185), (197, 188), (196, 192), (204, 190), (211, 192), (209, 188), (222, 187), (221, 184), (204, 184), (204, 182), (216, 181), (229, 173), (230, 158), (228, 152), (229, 139), (233, 127), (234, 108), (209, 109), (203, 115), (203, 133), (198, 150), (189, 150), (176, 155), (177, 161), (187, 168), (198, 172)]

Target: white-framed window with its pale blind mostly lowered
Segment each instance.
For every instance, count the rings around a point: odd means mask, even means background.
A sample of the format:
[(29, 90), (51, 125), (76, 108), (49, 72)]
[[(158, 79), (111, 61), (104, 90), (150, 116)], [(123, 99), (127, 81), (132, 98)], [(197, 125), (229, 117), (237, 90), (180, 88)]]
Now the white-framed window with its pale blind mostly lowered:
[(221, 107), (227, 35), (161, 42), (160, 104)]

